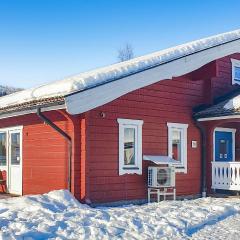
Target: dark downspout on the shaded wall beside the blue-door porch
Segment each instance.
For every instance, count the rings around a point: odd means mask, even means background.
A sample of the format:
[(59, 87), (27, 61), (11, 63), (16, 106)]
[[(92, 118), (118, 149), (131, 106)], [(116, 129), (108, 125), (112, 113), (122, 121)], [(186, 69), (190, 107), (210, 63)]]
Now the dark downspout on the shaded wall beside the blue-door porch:
[(207, 139), (206, 139), (206, 130), (195, 119), (195, 123), (200, 130), (201, 133), (201, 140), (202, 140), (202, 145), (201, 145), (201, 166), (202, 166), (202, 171), (201, 171), (201, 194), (202, 197), (206, 197), (207, 195), (207, 151), (206, 151), (206, 146), (207, 146)]

